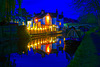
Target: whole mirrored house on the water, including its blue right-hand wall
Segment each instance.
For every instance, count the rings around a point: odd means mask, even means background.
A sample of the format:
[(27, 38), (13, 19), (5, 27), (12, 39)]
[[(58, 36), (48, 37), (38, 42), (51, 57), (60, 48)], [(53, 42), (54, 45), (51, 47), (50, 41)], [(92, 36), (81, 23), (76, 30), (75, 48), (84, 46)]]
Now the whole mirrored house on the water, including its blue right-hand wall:
[(47, 55), (49, 55), (50, 53), (58, 53), (59, 50), (63, 51), (64, 47), (63, 38), (58, 38), (59, 36), (61, 35), (40, 37), (34, 39), (28, 43), (27, 48), (29, 51), (31, 51), (32, 48), (33, 51), (37, 51), (38, 53), (44, 53)]

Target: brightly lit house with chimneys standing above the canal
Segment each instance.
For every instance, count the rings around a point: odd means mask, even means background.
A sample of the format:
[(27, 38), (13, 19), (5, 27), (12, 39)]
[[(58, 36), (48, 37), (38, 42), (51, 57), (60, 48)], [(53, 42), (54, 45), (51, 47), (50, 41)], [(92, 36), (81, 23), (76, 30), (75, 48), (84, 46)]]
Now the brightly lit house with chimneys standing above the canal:
[(34, 13), (34, 15), (33, 22), (31, 22), (33, 30), (45, 30), (45, 32), (62, 30), (64, 22), (63, 13), (58, 15), (57, 10), (56, 13), (45, 13), (45, 11), (42, 10), (41, 13)]

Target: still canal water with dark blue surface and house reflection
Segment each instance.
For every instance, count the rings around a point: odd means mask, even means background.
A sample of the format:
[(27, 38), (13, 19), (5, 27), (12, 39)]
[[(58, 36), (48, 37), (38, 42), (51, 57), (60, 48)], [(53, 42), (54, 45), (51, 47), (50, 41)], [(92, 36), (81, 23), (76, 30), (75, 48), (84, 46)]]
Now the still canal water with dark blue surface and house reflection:
[(79, 45), (68, 44), (66, 40), (58, 34), (1, 43), (0, 66), (66, 67)]

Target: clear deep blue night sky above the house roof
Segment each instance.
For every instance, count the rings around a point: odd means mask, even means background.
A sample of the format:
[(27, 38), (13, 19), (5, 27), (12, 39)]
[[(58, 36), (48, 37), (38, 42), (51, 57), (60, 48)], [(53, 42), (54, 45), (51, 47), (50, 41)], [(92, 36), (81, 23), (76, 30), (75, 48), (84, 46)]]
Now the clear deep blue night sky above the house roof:
[(79, 12), (73, 8), (72, 0), (23, 0), (22, 8), (25, 8), (30, 14), (39, 13), (41, 10), (45, 12), (56, 12), (61, 14), (63, 11), (64, 16), (67, 18), (77, 19)]

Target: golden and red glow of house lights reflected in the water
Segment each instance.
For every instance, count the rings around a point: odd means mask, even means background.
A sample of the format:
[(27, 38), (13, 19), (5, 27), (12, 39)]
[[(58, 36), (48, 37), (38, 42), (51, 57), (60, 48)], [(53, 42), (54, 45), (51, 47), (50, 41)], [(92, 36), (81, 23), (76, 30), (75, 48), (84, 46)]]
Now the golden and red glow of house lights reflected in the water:
[[(50, 54), (51, 49), (52, 49), (52, 43), (55, 43), (56, 40), (57, 40), (57, 37), (55, 37), (55, 36), (36, 38), (28, 43), (27, 48), (29, 51), (31, 51), (31, 49), (34, 49), (34, 50), (40, 49), (40, 50), (45, 51), (47, 54)], [(60, 43), (60, 41), (59, 41), (59, 43)], [(43, 46), (43, 45), (45, 45), (45, 46)]]

